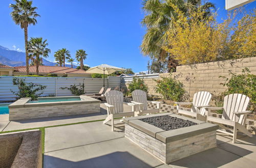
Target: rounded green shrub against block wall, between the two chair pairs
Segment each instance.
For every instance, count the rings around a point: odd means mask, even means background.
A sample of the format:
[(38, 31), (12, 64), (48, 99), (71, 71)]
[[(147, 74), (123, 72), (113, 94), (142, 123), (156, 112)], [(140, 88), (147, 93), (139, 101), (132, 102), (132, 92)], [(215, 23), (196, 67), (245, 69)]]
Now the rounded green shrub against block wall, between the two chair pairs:
[(184, 85), (182, 82), (171, 76), (154, 79), (157, 82), (155, 91), (163, 95), (165, 100), (180, 101), (185, 94)]

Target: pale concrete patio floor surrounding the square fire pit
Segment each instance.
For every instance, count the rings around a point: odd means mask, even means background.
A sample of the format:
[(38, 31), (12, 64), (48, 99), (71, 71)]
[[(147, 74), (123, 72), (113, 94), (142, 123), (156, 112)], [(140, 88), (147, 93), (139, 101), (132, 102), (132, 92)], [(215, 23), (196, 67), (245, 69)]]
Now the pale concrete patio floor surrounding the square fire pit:
[[(125, 110), (130, 110), (125, 106)], [(94, 115), (6, 121), (0, 118), (1, 131), (102, 120), (105, 107)], [(6, 117), (5, 117), (6, 118)], [(119, 120), (114, 132), (102, 121), (46, 128), (44, 167), (256, 167), (256, 136), (231, 136), (217, 133), (217, 148), (163, 164), (153, 155), (124, 137)]]

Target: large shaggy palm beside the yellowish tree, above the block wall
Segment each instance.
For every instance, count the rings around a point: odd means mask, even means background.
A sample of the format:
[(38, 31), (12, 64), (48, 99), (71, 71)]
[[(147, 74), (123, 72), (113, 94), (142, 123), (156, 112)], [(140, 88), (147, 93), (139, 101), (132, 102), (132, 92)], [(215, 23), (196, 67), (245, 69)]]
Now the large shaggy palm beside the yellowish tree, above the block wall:
[(162, 49), (166, 45), (166, 32), (174, 29), (172, 22), (177, 19), (173, 5), (186, 15), (191, 11), (204, 11), (205, 18), (211, 15), (211, 9), (216, 10), (214, 4), (207, 2), (202, 5), (201, 0), (144, 0), (142, 5), (145, 16), (141, 23), (146, 27), (146, 34), (140, 46), (141, 52), (151, 59), (167, 61), (168, 71), (178, 64), (172, 55)]

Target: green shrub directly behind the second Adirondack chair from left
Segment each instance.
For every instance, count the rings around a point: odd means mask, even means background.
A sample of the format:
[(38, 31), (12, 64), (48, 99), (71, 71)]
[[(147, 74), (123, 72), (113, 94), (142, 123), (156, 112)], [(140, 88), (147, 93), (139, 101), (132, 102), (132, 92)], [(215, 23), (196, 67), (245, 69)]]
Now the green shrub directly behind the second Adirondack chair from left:
[(133, 77), (132, 82), (128, 84), (128, 91), (131, 94), (133, 91), (135, 91), (137, 89), (145, 91), (146, 93), (148, 91), (148, 87), (147, 87), (146, 83), (144, 82), (143, 78)]

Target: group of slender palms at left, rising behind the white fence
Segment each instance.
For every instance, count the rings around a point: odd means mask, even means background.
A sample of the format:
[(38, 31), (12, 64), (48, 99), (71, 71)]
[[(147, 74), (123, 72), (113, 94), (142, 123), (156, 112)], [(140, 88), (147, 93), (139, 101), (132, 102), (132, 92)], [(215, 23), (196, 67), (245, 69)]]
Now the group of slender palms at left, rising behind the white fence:
[[(39, 65), (42, 65), (42, 57), (48, 57), (51, 52), (48, 46), (47, 40), (42, 38), (31, 38), (28, 41), (28, 26), (30, 24), (35, 25), (37, 23), (36, 17), (40, 16), (36, 13), (36, 7), (32, 6), (32, 1), (27, 0), (14, 0), (15, 4), (10, 4), (12, 8), (11, 16), (15, 24), (20, 25), (24, 29), (25, 34), (25, 50), (26, 50), (26, 71), (29, 74), (29, 60), (31, 65), (36, 66), (36, 74), (39, 73)], [(86, 51), (79, 49), (76, 51), (76, 59), (80, 62), (80, 67), (83, 69), (83, 60), (86, 59)], [(42, 56), (42, 57), (41, 57)], [(73, 68), (74, 59), (71, 58), (70, 51), (66, 48), (59, 49), (54, 54), (55, 61), (59, 66), (65, 67), (66, 59), (71, 63)]]

